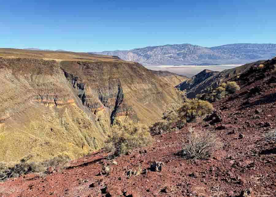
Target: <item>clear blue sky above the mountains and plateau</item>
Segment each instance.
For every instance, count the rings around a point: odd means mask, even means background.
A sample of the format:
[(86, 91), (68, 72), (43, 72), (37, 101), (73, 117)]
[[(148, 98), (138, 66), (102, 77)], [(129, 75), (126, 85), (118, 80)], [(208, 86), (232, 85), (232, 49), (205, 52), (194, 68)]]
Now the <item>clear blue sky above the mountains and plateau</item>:
[(2, 1), (0, 47), (128, 50), (276, 43), (276, 0)]

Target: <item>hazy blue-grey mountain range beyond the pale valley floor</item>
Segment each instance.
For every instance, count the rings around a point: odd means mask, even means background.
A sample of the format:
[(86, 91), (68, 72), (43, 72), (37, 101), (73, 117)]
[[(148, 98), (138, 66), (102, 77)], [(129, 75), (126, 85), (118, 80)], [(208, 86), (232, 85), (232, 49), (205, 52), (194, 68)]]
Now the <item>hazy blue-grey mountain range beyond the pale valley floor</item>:
[(128, 51), (90, 52), (118, 56), (143, 65), (216, 65), (245, 64), (276, 56), (276, 44), (227, 44), (201, 47), (192, 44), (173, 44), (136, 48)]

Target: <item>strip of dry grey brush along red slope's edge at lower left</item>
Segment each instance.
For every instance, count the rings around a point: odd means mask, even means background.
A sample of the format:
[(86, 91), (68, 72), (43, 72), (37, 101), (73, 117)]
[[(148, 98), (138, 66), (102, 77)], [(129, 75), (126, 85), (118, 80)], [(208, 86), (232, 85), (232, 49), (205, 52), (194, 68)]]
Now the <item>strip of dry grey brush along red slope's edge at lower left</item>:
[(17, 163), (0, 162), (0, 181), (11, 177), (18, 177), (22, 174), (45, 172), (48, 167), (59, 167), (62, 169), (69, 161), (68, 156), (58, 155), (43, 162), (29, 162), (28, 159), (21, 159)]

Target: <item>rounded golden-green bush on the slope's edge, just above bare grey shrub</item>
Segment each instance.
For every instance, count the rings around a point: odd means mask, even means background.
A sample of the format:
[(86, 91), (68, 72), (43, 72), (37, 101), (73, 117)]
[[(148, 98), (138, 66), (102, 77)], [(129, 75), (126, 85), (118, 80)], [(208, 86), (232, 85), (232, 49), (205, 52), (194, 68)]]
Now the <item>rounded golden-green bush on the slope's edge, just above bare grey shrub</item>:
[(187, 122), (192, 122), (196, 118), (202, 117), (212, 111), (213, 105), (208, 101), (192, 99), (178, 109), (178, 114)]

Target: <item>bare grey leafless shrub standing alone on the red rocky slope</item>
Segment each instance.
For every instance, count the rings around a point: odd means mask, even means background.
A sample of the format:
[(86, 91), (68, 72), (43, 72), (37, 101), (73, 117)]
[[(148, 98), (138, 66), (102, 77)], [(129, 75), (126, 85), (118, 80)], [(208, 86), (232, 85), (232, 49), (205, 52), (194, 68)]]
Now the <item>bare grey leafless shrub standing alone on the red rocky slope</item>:
[(189, 128), (186, 138), (181, 155), (188, 159), (204, 159), (222, 146), (217, 135), (211, 131)]

